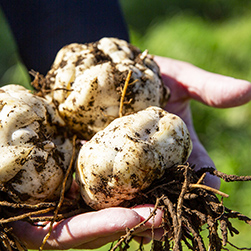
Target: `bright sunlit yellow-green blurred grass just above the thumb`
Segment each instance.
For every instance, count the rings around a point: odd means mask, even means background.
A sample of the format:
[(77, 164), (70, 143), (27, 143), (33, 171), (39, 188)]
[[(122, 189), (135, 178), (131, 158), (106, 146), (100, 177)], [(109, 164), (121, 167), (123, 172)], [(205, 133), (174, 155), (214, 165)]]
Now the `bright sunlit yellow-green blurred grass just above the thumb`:
[(132, 43), (152, 54), (251, 80), (250, 16), (210, 23), (181, 13), (151, 26), (143, 37), (132, 30)]

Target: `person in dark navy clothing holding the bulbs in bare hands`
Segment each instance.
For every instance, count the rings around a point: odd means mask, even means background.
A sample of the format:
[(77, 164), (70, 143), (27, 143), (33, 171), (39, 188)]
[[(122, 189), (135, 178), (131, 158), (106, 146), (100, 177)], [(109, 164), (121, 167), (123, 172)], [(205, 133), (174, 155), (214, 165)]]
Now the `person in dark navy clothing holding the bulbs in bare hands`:
[[(14, 1), (0, 0), (0, 4), (16, 38), (20, 55), (28, 69), (46, 73), (57, 51), (72, 42), (96, 41), (104, 36), (129, 40), (122, 13), (116, 0), (99, 1)], [(195, 99), (211, 107), (228, 108), (251, 100), (248, 81), (206, 72), (189, 63), (155, 56), (163, 81), (171, 90), (167, 110), (179, 115), (187, 124), (193, 141), (189, 158), (196, 168), (214, 166), (194, 130), (189, 101)], [(207, 175), (206, 183), (219, 188), (220, 181)], [(75, 184), (75, 183), (74, 183)], [(71, 189), (74, 195), (76, 184)], [(148, 217), (153, 205), (135, 208), (114, 207), (80, 214), (54, 224), (44, 248), (93, 249), (117, 240), (126, 229)], [(134, 235), (147, 242), (154, 236), (160, 239), (162, 211), (157, 210)], [(48, 232), (47, 227), (32, 226), (26, 222), (12, 224), (17, 236), (28, 248), (37, 249)]]

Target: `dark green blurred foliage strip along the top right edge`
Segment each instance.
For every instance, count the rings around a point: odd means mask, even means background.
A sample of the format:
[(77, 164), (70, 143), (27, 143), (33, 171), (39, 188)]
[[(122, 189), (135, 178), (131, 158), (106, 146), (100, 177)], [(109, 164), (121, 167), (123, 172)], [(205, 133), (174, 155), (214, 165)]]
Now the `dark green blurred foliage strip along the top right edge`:
[(243, 15), (249, 0), (120, 0), (128, 24), (141, 34), (149, 25), (179, 13), (190, 13), (209, 22)]

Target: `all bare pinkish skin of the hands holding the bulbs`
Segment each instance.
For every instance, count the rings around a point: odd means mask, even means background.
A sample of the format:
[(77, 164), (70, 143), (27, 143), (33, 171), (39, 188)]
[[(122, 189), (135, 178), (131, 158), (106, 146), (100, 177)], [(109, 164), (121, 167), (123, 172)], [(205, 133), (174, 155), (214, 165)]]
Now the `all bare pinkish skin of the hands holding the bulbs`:
[[(197, 169), (205, 166), (215, 167), (194, 130), (189, 101), (195, 99), (216, 108), (240, 106), (251, 100), (251, 84), (245, 80), (209, 73), (185, 62), (157, 56), (155, 60), (160, 66), (163, 81), (172, 94), (166, 109), (179, 115), (190, 131), (193, 151), (189, 162), (195, 164)], [(206, 183), (215, 188), (220, 186), (219, 179), (209, 175), (206, 176)], [(71, 196), (77, 191), (78, 187), (74, 183)], [(54, 225), (45, 249), (100, 247), (117, 240), (127, 228), (142, 222), (153, 208), (153, 205), (141, 205), (132, 209), (116, 207), (74, 216)], [(135, 233), (135, 239), (141, 240), (143, 237), (145, 242), (149, 241), (152, 236), (152, 223), (155, 238), (160, 239), (163, 233), (159, 228), (161, 218), (162, 212), (158, 210), (154, 221), (150, 220)], [(24, 222), (16, 222), (13, 227), (27, 247), (33, 249), (38, 249), (48, 231), (48, 227), (34, 227)]]

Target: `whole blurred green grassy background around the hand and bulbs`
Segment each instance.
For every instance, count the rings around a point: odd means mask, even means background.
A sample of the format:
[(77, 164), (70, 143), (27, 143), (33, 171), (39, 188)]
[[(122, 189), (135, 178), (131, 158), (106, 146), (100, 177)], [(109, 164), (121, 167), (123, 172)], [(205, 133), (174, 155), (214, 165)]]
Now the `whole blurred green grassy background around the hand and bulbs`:
[[(120, 1), (131, 42), (142, 50), (251, 81), (250, 0)], [(29, 86), (29, 81), (8, 26), (0, 15), (0, 84)], [(251, 175), (251, 104), (213, 109), (192, 101), (191, 106), (196, 131), (216, 167), (228, 174)], [(224, 200), (227, 207), (251, 217), (250, 182), (222, 182), (221, 190), (230, 195)], [(238, 221), (233, 224), (240, 234), (230, 237), (230, 241), (250, 248), (251, 227)], [(133, 245), (131, 250), (135, 249)], [(145, 250), (148, 249), (146, 246)]]

